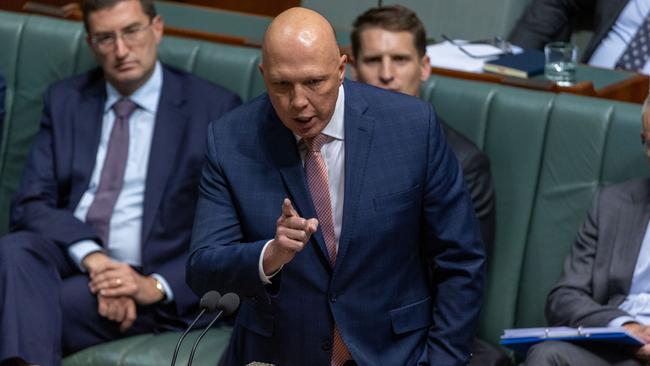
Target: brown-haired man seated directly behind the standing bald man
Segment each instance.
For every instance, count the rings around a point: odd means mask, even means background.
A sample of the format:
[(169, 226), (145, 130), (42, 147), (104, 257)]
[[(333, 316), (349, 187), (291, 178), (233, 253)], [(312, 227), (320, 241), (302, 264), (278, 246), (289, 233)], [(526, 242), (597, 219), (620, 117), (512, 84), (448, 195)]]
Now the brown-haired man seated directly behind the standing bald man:
[[(372, 8), (354, 22), (353, 74), (359, 81), (418, 96), (431, 74), (425, 50), (426, 33), (417, 15), (399, 5)], [(441, 121), (449, 146), (463, 168), (481, 237), (489, 256), (494, 242), (495, 198), (488, 158), (467, 137)], [(476, 339), (471, 365), (509, 365), (495, 347)]]

